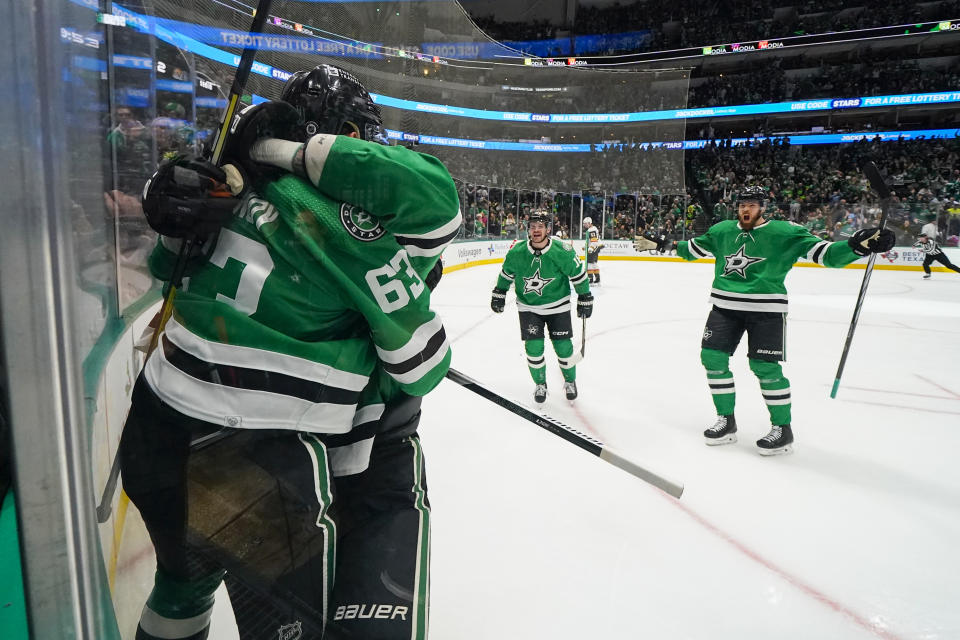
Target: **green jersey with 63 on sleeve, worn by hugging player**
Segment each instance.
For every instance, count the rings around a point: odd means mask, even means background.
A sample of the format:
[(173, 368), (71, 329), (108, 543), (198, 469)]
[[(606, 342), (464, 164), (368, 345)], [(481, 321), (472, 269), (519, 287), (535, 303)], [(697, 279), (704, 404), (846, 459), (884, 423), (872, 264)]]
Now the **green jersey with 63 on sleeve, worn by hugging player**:
[[(314, 136), (305, 160), (309, 181), (258, 185), (177, 291), (145, 375), (186, 415), (346, 433), (383, 412), (372, 375), (424, 395), (449, 367), (423, 281), (460, 228), (446, 168), (343, 136)], [(175, 260), (167, 242), (150, 259), (161, 279)]]

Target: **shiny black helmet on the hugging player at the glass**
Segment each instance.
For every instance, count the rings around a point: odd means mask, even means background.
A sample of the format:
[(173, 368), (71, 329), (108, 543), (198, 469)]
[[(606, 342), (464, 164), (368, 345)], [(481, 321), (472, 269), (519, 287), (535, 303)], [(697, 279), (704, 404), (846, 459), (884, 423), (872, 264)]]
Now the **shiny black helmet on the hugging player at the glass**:
[(346, 69), (320, 64), (297, 71), (283, 85), (280, 99), (300, 113), (304, 138), (352, 127), (361, 138), (387, 144), (380, 108), (360, 80)]

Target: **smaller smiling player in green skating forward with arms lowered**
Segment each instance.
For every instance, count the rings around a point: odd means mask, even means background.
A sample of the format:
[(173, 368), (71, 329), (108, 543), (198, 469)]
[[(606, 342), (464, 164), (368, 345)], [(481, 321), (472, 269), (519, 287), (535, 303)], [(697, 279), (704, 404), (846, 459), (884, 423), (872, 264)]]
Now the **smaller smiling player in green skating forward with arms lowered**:
[(493, 311), (502, 313), (507, 289), (513, 285), (517, 292), (520, 339), (536, 384), (533, 398), (537, 402), (547, 399), (544, 326), (550, 331), (550, 341), (563, 373), (564, 393), (568, 400), (577, 397), (577, 368), (570, 361), (573, 357), (570, 285), (578, 294), (577, 317), (589, 318), (593, 313), (593, 294), (585, 265), (570, 245), (550, 237), (549, 224), (550, 218), (545, 213), (530, 215), (529, 238), (507, 252), (490, 301)]

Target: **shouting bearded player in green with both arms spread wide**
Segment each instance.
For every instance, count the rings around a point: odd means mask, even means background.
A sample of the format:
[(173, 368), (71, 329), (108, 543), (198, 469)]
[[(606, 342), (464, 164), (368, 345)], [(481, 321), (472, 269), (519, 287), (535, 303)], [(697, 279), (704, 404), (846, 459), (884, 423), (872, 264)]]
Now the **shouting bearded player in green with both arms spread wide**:
[(783, 281), (794, 262), (803, 256), (826, 267), (843, 267), (860, 256), (882, 253), (893, 247), (888, 229), (861, 229), (849, 240), (827, 242), (805, 228), (763, 218), (766, 200), (761, 187), (749, 187), (737, 203), (737, 220), (725, 220), (706, 233), (677, 243), (677, 255), (696, 260), (716, 259), (710, 302), (701, 342), (700, 360), (717, 410), (717, 421), (704, 431), (709, 445), (736, 442), (734, 383), (729, 359), (744, 332), (747, 334), (750, 370), (760, 381), (760, 391), (770, 414), (770, 432), (757, 441), (763, 455), (792, 449), (790, 382), (780, 362), (786, 359), (787, 290)]

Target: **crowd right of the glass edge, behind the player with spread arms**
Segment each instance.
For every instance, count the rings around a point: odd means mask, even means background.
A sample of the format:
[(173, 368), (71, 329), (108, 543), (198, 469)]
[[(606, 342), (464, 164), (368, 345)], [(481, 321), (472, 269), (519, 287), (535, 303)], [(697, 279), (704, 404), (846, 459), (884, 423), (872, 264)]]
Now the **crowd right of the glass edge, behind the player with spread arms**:
[[(949, 222), (947, 236), (960, 235), (960, 139), (863, 141), (856, 144), (792, 147), (762, 143), (711, 146), (688, 154), (694, 199), (711, 217), (732, 212), (736, 194), (751, 184), (770, 194), (771, 217), (810, 224), (837, 239), (879, 215), (876, 195), (860, 167), (874, 161), (894, 180), (897, 197), (890, 225), (901, 241), (934, 214)], [(822, 225), (822, 226), (821, 226)], [(956, 240), (953, 241), (956, 243)]]

